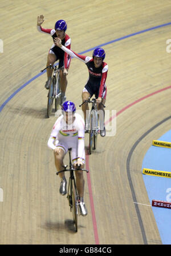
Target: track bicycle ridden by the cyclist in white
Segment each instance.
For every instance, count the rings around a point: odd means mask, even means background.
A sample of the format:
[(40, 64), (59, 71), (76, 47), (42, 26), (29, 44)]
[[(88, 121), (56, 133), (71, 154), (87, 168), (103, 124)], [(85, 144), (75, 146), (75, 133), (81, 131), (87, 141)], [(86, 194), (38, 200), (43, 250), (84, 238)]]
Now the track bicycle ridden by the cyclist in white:
[(69, 183), (68, 183), (68, 190), (67, 190), (67, 199), (69, 202), (70, 210), (72, 211), (73, 215), (73, 220), (74, 220), (74, 226), (75, 226), (75, 231), (78, 231), (78, 211), (79, 211), (79, 195), (78, 195), (78, 190), (76, 188), (76, 182), (75, 182), (75, 176), (74, 176), (74, 171), (86, 171), (86, 169), (81, 169), (78, 167), (78, 169), (74, 169), (71, 163), (71, 150), (72, 148), (68, 149), (69, 156), (70, 156), (70, 168), (67, 169), (68, 166), (64, 166), (64, 170), (56, 172), (56, 174), (60, 174), (60, 172), (70, 172), (70, 178), (69, 178)]

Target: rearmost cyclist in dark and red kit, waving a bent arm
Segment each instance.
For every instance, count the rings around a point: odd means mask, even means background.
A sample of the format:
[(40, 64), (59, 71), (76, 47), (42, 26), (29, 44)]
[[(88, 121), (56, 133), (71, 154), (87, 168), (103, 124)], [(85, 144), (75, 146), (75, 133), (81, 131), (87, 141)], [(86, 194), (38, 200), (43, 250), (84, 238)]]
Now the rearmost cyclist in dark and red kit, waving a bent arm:
[[(55, 29), (44, 29), (41, 24), (44, 22), (43, 15), (38, 16), (37, 21), (37, 29), (41, 33), (47, 33), (50, 34), (52, 39), (54, 40), (55, 37), (60, 38), (62, 40), (62, 45), (66, 46), (66, 48), (71, 48), (71, 38), (66, 34), (67, 30), (67, 23), (63, 19), (59, 19), (59, 21), (56, 21), (55, 23)], [(62, 99), (66, 100), (64, 98), (64, 94), (66, 92), (67, 88), (67, 74), (68, 74), (68, 68), (70, 66), (71, 57), (68, 55), (68, 53), (64, 53), (62, 49), (60, 49), (58, 46), (55, 46), (53, 44), (48, 52), (47, 56), (47, 66), (50, 64), (53, 66), (55, 61), (59, 60), (59, 68), (60, 68), (60, 86), (62, 89)], [(52, 69), (47, 69), (47, 81), (45, 84), (45, 88), (49, 89), (51, 84), (51, 76), (52, 76)]]

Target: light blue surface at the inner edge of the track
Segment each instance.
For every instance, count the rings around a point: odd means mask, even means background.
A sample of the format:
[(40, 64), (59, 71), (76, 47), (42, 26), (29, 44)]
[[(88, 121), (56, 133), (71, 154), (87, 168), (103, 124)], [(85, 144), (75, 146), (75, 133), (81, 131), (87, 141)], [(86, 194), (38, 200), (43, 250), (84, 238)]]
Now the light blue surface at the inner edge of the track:
[[(160, 138), (154, 140), (171, 142), (171, 130)], [(143, 160), (143, 168), (171, 172), (171, 148), (151, 146)], [(143, 175), (146, 191), (148, 192), (150, 204), (152, 200), (171, 202), (171, 179)], [(171, 209), (153, 207), (161, 241), (164, 245), (171, 245)]]

